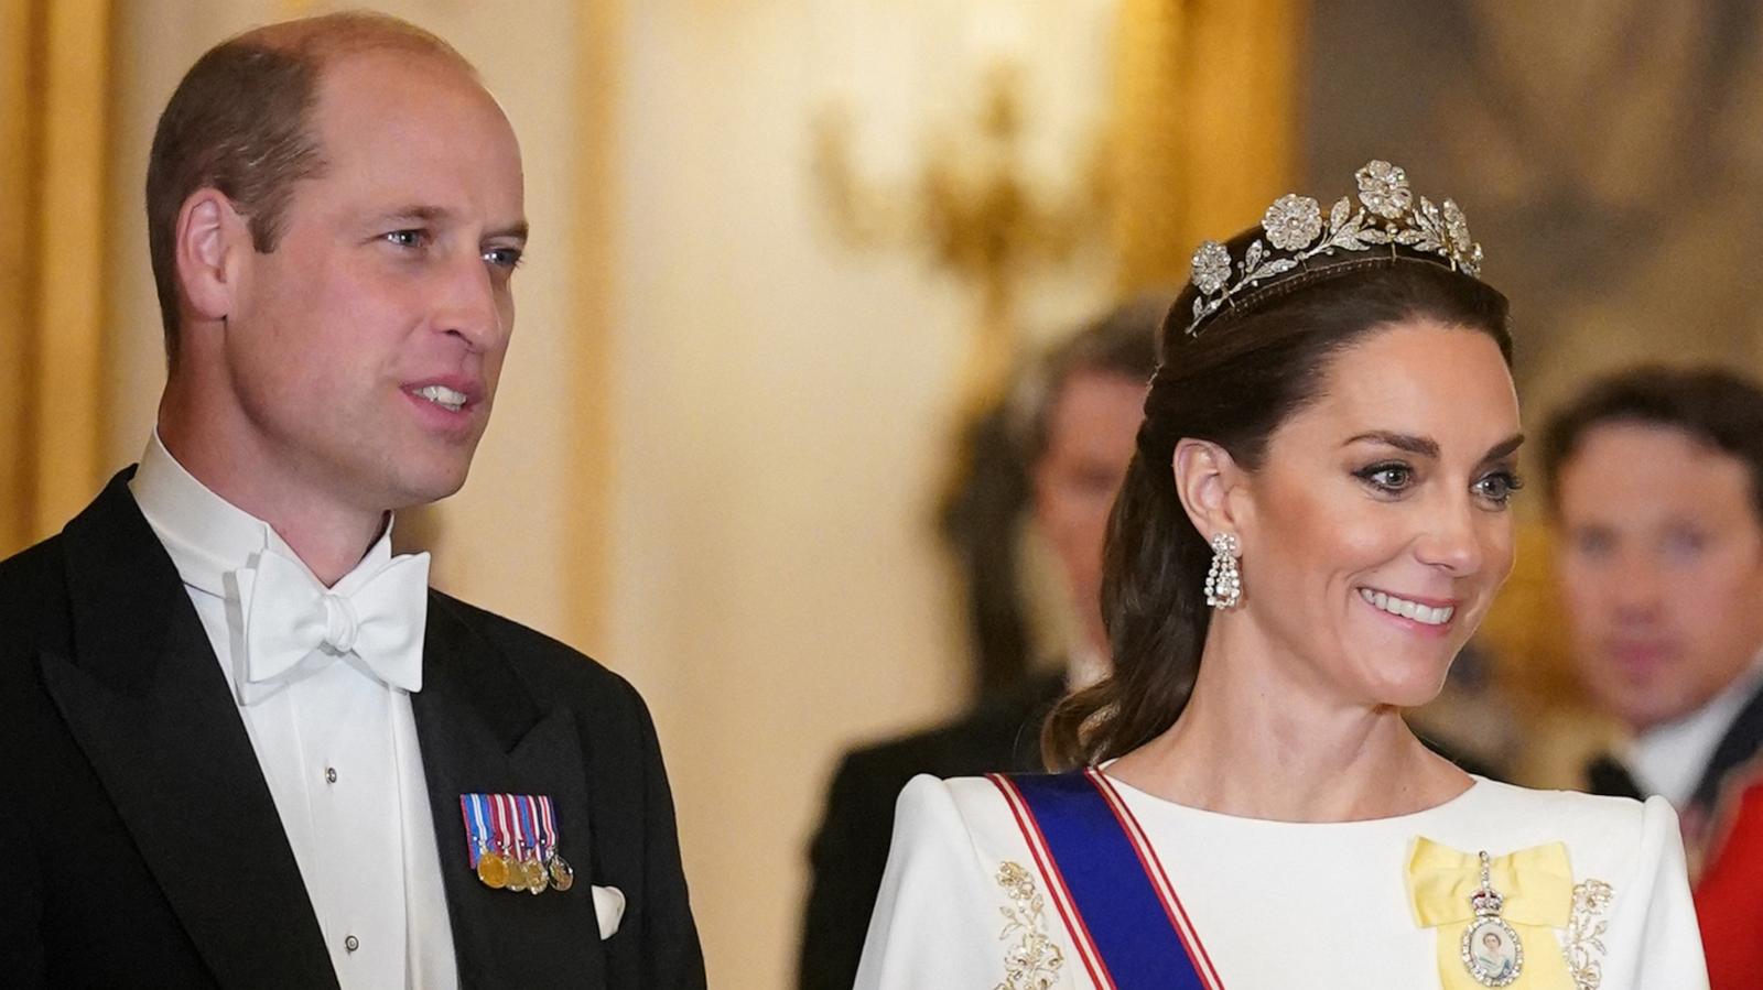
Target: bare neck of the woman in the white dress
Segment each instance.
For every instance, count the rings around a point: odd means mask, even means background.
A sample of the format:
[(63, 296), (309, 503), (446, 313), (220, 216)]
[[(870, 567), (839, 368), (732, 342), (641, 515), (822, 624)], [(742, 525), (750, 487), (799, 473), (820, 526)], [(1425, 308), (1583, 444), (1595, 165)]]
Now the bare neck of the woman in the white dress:
[(1271, 661), (1266, 643), (1218, 639), (1208, 638), (1181, 719), (1111, 765), (1111, 777), (1179, 805), (1275, 821), (1391, 817), (1470, 786), (1398, 708), (1331, 698), (1294, 675), (1296, 661)]

